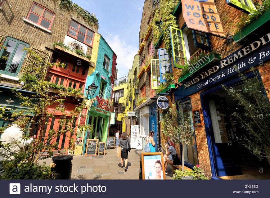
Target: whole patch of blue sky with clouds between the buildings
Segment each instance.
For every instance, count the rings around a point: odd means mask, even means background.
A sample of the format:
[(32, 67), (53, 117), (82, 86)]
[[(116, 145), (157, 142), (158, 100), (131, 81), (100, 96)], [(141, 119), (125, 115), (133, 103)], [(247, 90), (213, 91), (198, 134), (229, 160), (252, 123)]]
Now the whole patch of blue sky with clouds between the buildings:
[(139, 49), (139, 30), (144, 0), (72, 0), (95, 13), (98, 32), (117, 55), (118, 78), (128, 75)]

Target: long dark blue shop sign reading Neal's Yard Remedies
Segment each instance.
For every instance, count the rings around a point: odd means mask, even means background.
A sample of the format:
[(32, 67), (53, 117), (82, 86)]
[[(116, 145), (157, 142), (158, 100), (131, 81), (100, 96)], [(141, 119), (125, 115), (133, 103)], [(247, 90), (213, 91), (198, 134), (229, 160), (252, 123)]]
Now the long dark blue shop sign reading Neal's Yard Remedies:
[(232, 77), (237, 74), (237, 69), (244, 71), (256, 65), (263, 65), (264, 61), (269, 60), (269, 42), (270, 33), (219, 61), (219, 65), (195, 75), (195, 77), (175, 89), (175, 100)]

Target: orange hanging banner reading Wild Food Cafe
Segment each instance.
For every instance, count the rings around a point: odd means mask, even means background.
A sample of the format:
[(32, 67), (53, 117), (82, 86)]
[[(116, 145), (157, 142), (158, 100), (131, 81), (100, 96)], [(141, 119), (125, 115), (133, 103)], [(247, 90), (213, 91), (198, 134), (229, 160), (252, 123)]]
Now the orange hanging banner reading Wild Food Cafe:
[(225, 37), (214, 0), (182, 0), (187, 27)]

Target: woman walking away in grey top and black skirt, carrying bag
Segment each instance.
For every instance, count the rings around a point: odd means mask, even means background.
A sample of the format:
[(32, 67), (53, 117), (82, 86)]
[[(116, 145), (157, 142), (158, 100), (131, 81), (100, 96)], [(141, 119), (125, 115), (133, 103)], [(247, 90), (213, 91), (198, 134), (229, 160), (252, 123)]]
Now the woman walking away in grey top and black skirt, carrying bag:
[(127, 132), (123, 132), (119, 140), (118, 146), (121, 146), (121, 168), (123, 168), (123, 163), (125, 159), (125, 171), (127, 171), (128, 165), (128, 151), (130, 152), (130, 140), (127, 136)]

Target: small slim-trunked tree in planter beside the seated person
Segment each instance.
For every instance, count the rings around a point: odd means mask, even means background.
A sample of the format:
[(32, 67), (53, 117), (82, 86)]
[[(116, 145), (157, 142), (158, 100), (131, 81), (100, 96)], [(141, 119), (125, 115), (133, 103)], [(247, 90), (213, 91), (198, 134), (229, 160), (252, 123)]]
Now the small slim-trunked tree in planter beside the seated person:
[(191, 144), (191, 137), (194, 133), (190, 117), (181, 114), (173, 104), (172, 108), (163, 111), (162, 127), (163, 133), (174, 143), (182, 144), (182, 172), (184, 172), (184, 145)]

